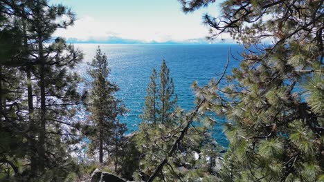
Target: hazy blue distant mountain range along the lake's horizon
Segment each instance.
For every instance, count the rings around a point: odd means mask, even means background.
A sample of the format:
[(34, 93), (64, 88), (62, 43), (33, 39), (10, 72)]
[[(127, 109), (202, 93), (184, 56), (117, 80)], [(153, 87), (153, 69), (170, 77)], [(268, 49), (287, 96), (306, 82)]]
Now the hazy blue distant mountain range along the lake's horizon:
[(200, 39), (188, 39), (185, 41), (141, 41), (135, 39), (123, 39), (120, 37), (109, 37), (107, 39), (87, 39), (87, 40), (80, 40), (77, 38), (68, 38), (66, 39), (67, 43), (120, 43), (120, 44), (229, 44), (235, 43), (232, 39), (215, 39), (214, 41), (208, 41), (204, 38)]

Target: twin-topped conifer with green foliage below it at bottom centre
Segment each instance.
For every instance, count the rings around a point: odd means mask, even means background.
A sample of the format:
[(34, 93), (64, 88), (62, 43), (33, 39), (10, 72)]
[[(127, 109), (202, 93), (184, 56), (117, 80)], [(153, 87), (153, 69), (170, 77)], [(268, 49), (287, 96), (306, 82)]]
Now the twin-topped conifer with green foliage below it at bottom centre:
[[(186, 131), (190, 137), (185, 137), (177, 145), (177, 150), (169, 156), (174, 142), (179, 139), (183, 128), (188, 124), (188, 114), (173, 106), (177, 104), (177, 95), (172, 98), (174, 85), (169, 74), (170, 71), (163, 60), (160, 78), (156, 79), (156, 71), (153, 70), (147, 86), (142, 115), (144, 121), (133, 136), (136, 149), (141, 154), (134, 179), (150, 181), (151, 176), (154, 176), (156, 181), (215, 181), (217, 177), (211, 174), (215, 174), (213, 161), (218, 156), (219, 146), (211, 138), (208, 128), (190, 125), (192, 127)], [(159, 94), (154, 99), (157, 93), (155, 90), (158, 90)], [(166, 156), (168, 161), (165, 162), (165, 167), (156, 172)]]

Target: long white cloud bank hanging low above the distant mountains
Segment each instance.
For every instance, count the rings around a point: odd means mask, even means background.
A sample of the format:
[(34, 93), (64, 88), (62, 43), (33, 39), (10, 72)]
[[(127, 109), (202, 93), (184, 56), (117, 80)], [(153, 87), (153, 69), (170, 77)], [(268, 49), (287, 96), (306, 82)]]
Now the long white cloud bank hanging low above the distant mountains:
[[(208, 34), (207, 28), (202, 25), (195, 27), (188, 24), (170, 22), (159, 25), (146, 24), (143, 26), (132, 22), (114, 22), (94, 19), (93, 17), (83, 17), (75, 21), (73, 26), (67, 29), (57, 30), (54, 36), (75, 38), (80, 41), (89, 39), (100, 41), (109, 37), (121, 37), (123, 39), (134, 39), (145, 42), (165, 42), (184, 41), (187, 39), (197, 39)], [(190, 25), (190, 24), (189, 24)]]

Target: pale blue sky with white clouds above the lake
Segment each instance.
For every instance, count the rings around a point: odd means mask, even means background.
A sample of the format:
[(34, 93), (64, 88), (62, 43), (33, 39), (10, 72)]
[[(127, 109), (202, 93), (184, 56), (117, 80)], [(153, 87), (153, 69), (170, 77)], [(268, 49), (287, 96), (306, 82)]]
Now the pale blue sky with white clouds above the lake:
[[(77, 14), (77, 20), (54, 36), (78, 41), (131, 39), (150, 42), (195, 41), (208, 35), (202, 16), (218, 16), (216, 3), (192, 13), (181, 11), (177, 0), (51, 0)], [(226, 39), (227, 37), (222, 37)]]

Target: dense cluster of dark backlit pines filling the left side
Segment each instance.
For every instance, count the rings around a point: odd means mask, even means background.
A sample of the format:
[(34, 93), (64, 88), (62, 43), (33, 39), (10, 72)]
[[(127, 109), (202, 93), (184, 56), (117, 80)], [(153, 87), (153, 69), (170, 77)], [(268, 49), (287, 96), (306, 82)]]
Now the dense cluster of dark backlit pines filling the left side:
[(75, 166), (68, 154), (78, 141), (71, 118), (81, 98), (73, 68), (82, 53), (51, 35), (74, 15), (47, 1), (1, 1), (0, 9), (0, 161), (9, 164), (1, 165), (0, 177), (63, 180)]

